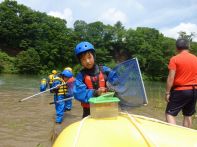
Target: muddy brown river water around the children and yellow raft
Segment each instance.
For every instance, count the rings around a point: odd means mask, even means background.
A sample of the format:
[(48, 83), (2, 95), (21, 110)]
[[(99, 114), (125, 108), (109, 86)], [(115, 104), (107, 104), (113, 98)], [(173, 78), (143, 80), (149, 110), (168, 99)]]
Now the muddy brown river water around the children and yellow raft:
[[(73, 108), (65, 112), (63, 123), (55, 124), (55, 108), (49, 105), (53, 94), (49, 92), (18, 102), (39, 93), (41, 78), (0, 75), (0, 147), (50, 147), (66, 126), (81, 120), (82, 108), (78, 101), (73, 100)], [(156, 91), (162, 90), (158, 85), (153, 86), (147, 89), (148, 97), (158, 97), (160, 93)], [(145, 107), (127, 110), (132, 114), (164, 120), (164, 107), (165, 102), (157, 98), (150, 99)]]

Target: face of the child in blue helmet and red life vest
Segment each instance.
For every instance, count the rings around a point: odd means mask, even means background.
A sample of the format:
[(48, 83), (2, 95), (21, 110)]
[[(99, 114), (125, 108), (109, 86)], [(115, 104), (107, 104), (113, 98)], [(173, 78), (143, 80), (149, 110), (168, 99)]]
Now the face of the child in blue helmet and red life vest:
[(81, 65), (84, 68), (91, 69), (94, 66), (94, 56), (91, 52), (82, 54), (80, 58)]

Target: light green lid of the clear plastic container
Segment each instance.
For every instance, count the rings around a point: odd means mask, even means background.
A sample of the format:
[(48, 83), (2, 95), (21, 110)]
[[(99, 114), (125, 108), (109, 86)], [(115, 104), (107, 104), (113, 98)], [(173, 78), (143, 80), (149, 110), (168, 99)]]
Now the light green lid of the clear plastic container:
[(119, 102), (120, 99), (113, 97), (114, 92), (107, 92), (99, 97), (92, 97), (89, 99), (89, 103), (99, 104), (99, 103), (110, 103), (110, 102)]

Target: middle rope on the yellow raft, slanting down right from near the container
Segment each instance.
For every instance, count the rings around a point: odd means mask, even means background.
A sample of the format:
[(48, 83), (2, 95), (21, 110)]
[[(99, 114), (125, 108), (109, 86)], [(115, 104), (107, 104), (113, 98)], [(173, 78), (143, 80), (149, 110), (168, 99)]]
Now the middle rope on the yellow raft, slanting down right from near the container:
[(121, 112), (121, 114), (126, 114), (128, 115), (128, 117), (130, 118), (131, 123), (134, 125), (134, 127), (138, 130), (138, 132), (141, 134), (141, 136), (143, 137), (144, 141), (146, 142), (146, 144), (149, 147), (155, 146), (157, 147), (157, 145), (150, 139), (150, 137), (148, 137), (148, 135), (146, 135), (145, 131), (142, 129), (142, 127), (140, 127), (137, 123), (137, 120), (131, 115), (129, 114), (127, 111), (126, 113)]

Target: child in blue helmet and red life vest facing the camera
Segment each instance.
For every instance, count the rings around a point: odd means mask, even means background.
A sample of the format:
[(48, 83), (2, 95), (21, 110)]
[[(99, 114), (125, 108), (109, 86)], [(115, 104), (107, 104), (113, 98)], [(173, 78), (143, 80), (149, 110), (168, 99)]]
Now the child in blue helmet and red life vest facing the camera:
[(81, 102), (83, 118), (90, 115), (88, 100), (106, 92), (107, 76), (111, 69), (96, 64), (94, 46), (89, 42), (81, 42), (75, 47), (75, 55), (83, 66), (77, 74), (74, 84), (74, 97)]

